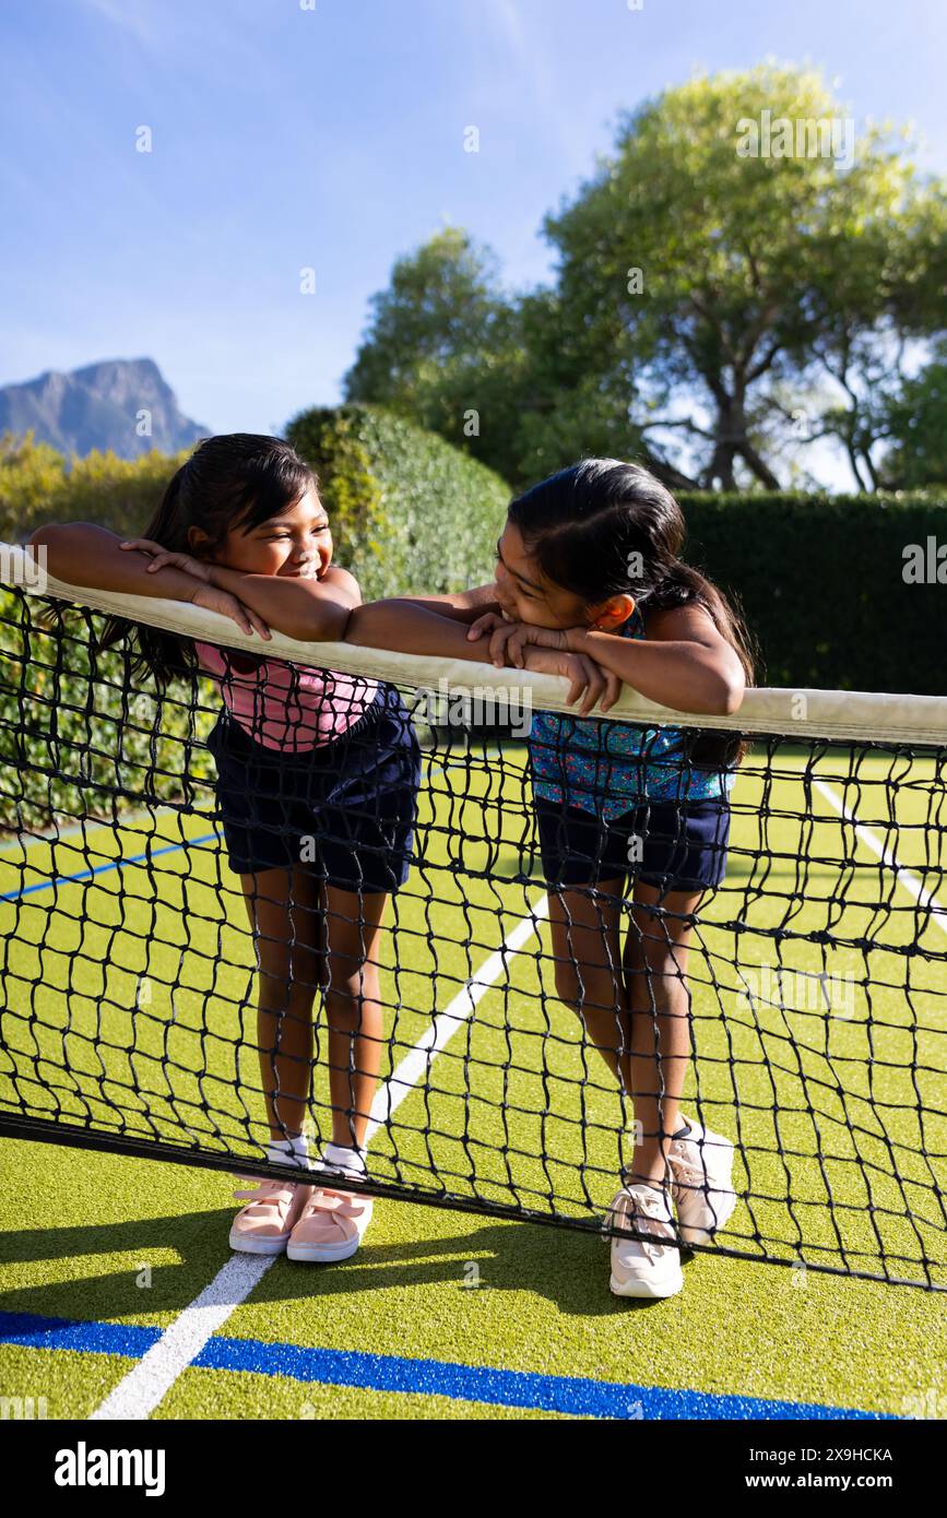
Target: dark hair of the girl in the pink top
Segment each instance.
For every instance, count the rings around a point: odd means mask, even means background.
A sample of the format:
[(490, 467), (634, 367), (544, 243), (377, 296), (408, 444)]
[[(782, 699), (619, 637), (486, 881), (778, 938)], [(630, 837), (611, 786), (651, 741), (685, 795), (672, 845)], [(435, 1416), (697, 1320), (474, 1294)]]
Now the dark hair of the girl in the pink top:
[[(281, 437), (258, 433), (205, 437), (171, 477), (141, 537), (179, 553), (209, 557), (228, 531), (253, 531), (299, 501), (311, 486), (319, 486), (316, 474)], [(206, 533), (203, 546), (191, 546), (191, 527)], [(171, 676), (194, 668), (190, 641), (118, 616), (108, 618), (100, 647), (109, 648), (129, 631), (134, 631), (137, 644), (132, 671), (147, 669), (159, 685), (165, 685)]]

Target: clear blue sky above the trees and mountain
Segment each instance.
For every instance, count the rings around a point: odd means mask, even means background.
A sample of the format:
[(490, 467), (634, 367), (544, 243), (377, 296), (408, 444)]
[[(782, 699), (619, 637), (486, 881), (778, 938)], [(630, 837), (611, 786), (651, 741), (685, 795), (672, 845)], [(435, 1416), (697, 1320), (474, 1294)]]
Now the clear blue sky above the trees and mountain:
[(618, 112), (766, 56), (947, 170), (947, 0), (5, 0), (0, 384), (150, 355), (200, 424), (278, 430), (399, 254), (451, 222), (543, 279)]

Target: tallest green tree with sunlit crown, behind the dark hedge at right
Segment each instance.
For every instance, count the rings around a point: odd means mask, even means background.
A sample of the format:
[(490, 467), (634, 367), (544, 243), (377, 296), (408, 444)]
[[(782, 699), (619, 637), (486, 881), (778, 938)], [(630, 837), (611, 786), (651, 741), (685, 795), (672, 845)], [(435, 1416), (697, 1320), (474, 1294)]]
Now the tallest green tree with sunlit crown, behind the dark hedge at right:
[[(838, 123), (835, 155), (820, 123)], [(584, 326), (619, 392), (624, 380), (645, 436), (680, 431), (701, 484), (733, 487), (739, 471), (772, 489), (759, 439), (774, 389), (821, 367), (857, 413), (853, 363), (933, 319), (944, 190), (880, 128), (853, 132), (845, 162), (847, 131), (818, 74), (694, 79), (627, 117), (615, 153), (546, 222), (568, 325)], [(810, 424), (812, 439), (848, 425), (838, 402)]]

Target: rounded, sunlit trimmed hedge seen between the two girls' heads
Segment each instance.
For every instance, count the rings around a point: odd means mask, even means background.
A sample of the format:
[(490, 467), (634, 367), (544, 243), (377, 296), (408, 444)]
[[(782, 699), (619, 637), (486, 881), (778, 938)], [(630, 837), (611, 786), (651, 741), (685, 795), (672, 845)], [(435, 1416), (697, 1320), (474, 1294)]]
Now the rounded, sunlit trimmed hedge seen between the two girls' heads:
[(375, 407), (302, 411), (287, 439), (319, 474), (335, 556), (366, 601), (493, 578), (511, 492), (492, 469)]

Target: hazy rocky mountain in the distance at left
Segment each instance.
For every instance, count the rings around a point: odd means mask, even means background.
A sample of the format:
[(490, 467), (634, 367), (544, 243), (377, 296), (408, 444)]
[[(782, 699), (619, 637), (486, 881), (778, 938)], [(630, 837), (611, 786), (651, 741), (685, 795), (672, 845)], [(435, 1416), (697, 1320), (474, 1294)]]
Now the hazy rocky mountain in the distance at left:
[(0, 434), (35, 433), (64, 454), (111, 448), (137, 458), (156, 448), (173, 454), (208, 428), (193, 422), (152, 358), (106, 358), (85, 369), (55, 369), (0, 387)]

